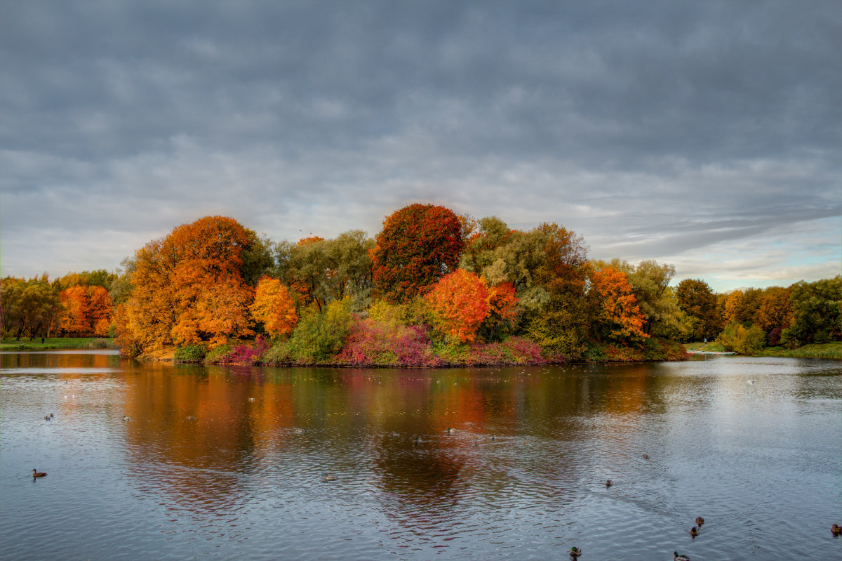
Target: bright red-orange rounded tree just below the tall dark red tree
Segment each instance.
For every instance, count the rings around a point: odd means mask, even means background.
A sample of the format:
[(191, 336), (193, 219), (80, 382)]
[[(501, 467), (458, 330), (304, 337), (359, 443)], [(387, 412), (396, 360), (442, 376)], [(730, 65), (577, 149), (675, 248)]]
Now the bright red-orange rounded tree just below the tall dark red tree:
[(424, 296), (434, 327), (460, 343), (471, 343), (491, 311), (485, 279), (464, 269), (445, 275)]

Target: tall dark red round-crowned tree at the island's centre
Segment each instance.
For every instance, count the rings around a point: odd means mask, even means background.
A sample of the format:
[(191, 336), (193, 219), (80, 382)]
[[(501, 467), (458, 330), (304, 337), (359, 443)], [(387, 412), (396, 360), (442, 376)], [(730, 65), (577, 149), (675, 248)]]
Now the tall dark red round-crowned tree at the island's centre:
[(376, 286), (388, 302), (429, 290), (459, 263), (464, 246), (459, 217), (444, 206), (414, 204), (386, 216), (371, 251)]

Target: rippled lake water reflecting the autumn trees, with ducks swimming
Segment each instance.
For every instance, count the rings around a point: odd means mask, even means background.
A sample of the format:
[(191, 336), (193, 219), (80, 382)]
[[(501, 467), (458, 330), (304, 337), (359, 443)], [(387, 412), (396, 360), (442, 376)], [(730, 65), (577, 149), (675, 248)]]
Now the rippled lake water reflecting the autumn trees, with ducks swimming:
[(4, 559), (842, 558), (839, 361), (0, 366)]

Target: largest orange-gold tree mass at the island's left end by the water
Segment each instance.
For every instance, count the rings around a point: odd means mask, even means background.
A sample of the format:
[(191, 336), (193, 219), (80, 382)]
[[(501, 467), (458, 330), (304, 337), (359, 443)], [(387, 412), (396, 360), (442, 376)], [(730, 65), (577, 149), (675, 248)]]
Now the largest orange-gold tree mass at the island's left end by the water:
[(131, 297), (118, 314), (118, 339), (132, 349), (201, 341), (211, 346), (251, 331), (253, 289), (242, 254), (256, 239), (225, 216), (173, 229), (135, 254)]

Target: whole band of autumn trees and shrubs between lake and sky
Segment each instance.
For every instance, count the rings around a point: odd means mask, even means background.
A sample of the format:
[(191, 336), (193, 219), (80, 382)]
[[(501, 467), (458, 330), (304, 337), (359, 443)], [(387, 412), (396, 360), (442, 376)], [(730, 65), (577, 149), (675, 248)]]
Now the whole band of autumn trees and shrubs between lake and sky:
[[(685, 360), (829, 344), (840, 278), (715, 294), (672, 265), (588, 259), (555, 223), (413, 204), (369, 238), (274, 243), (226, 216), (175, 227), (116, 273), (5, 277), (3, 339), (114, 338), (123, 355), (258, 365), (490, 366)], [(698, 345), (696, 345), (698, 346)]]

